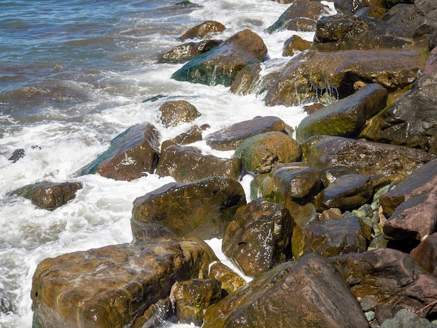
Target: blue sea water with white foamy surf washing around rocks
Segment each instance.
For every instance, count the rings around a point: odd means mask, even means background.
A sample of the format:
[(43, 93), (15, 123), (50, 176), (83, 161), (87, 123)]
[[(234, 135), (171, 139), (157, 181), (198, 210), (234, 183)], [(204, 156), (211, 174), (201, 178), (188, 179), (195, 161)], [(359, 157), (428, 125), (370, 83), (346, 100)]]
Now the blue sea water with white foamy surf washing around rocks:
[[(266, 107), (262, 96), (236, 96), (229, 88), (177, 82), (170, 76), (182, 64), (158, 64), (161, 54), (182, 43), (185, 31), (205, 20), (227, 29), (225, 39), (251, 29), (267, 45), (265, 70), (290, 59), (281, 56), (285, 40), (298, 34), (269, 35), (289, 5), (269, 0), (15, 0), (0, 1), (0, 327), (31, 327), (31, 278), (38, 263), (72, 251), (131, 242), (130, 218), (136, 197), (174, 181), (149, 174), (114, 181), (98, 174), (74, 177), (109, 142), (134, 124), (150, 122), (162, 140), (191, 124), (165, 128), (158, 108), (187, 100), (209, 124), (204, 136), (257, 115), (281, 117), (297, 126), (302, 107)], [(165, 95), (155, 102), (148, 98)], [(195, 146), (214, 151), (205, 142)], [(10, 156), (24, 149), (15, 163)], [(74, 200), (54, 211), (37, 209), (10, 191), (38, 181), (80, 181)], [(242, 179), (248, 193), (251, 177)], [(208, 241), (220, 253), (219, 240)], [(219, 255), (223, 256), (223, 255)], [(224, 259), (223, 259), (224, 260)], [(165, 327), (193, 327), (164, 322)]]

